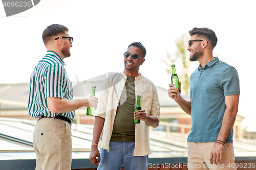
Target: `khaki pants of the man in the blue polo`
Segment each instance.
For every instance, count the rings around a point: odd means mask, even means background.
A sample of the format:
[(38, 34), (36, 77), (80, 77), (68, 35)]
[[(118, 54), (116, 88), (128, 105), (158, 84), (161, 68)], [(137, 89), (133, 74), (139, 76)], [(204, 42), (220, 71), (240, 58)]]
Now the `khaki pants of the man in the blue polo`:
[[(188, 169), (237, 169), (234, 162), (234, 148), (232, 143), (226, 143), (222, 161), (216, 164), (210, 164), (210, 153), (215, 142), (187, 142)], [(233, 167), (233, 168), (232, 168)]]

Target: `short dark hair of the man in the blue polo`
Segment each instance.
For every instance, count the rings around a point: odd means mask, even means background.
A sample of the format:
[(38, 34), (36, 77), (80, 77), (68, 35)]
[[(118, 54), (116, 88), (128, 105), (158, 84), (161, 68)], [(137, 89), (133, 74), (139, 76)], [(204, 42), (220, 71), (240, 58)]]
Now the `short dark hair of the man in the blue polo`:
[(212, 49), (214, 49), (218, 41), (215, 32), (208, 28), (194, 28), (189, 31), (189, 35), (199, 35), (203, 38), (206, 38), (207, 41), (209, 41), (209, 43), (211, 44)]

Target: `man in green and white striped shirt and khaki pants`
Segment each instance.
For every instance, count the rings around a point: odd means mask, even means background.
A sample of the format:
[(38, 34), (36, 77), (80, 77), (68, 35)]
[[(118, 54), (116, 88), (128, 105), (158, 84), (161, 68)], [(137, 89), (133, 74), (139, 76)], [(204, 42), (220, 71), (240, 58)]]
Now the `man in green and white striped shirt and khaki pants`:
[(74, 110), (97, 108), (98, 98), (73, 100), (72, 83), (63, 59), (70, 57), (73, 38), (68, 28), (51, 25), (42, 33), (47, 54), (30, 78), (29, 115), (37, 118), (33, 135), (36, 170), (71, 169), (71, 123)]

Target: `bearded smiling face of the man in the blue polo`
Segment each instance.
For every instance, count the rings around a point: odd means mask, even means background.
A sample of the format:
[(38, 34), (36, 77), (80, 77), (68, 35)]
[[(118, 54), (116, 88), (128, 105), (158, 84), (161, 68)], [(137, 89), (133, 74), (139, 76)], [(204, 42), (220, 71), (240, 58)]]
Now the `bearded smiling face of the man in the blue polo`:
[[(190, 40), (196, 40), (200, 39), (199, 37), (196, 37), (196, 35), (193, 35), (190, 37)], [(187, 50), (190, 53), (189, 60), (190, 61), (198, 61), (204, 54), (203, 49), (201, 47), (202, 41), (193, 41), (190, 42), (190, 46), (187, 46)]]

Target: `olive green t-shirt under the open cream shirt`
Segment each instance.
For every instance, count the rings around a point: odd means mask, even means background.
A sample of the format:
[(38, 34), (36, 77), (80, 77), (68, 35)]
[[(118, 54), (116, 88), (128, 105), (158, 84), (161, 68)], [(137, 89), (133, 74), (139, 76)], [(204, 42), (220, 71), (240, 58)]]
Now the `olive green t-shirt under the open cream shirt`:
[(135, 104), (134, 80), (135, 77), (127, 76), (125, 88), (122, 91), (116, 111), (111, 141), (135, 140), (135, 124), (133, 123)]

